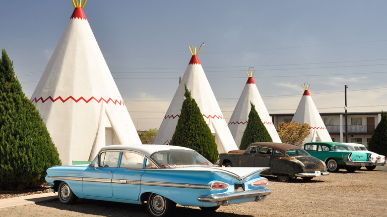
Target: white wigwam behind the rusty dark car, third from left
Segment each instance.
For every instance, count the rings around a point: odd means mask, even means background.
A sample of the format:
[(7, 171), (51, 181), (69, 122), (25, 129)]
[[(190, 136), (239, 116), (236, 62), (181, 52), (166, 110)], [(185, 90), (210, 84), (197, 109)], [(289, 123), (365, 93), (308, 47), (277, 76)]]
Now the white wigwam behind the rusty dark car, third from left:
[(241, 144), (242, 136), (245, 132), (249, 119), (249, 113), (251, 110), (250, 102), (255, 105), (259, 118), (262, 120), (262, 123), (266, 127), (273, 142), (281, 143), (281, 139), (278, 136), (277, 130), (274, 127), (273, 121), (269, 115), (269, 112), (267, 112), (263, 100), (260, 97), (257, 85), (254, 82), (253, 76), (256, 71), (252, 72), (249, 69), (246, 72), (249, 78), (247, 79), (245, 88), (243, 89), (238, 103), (235, 106), (235, 109), (228, 122), (228, 128), (234, 137), (235, 143), (238, 147)]

